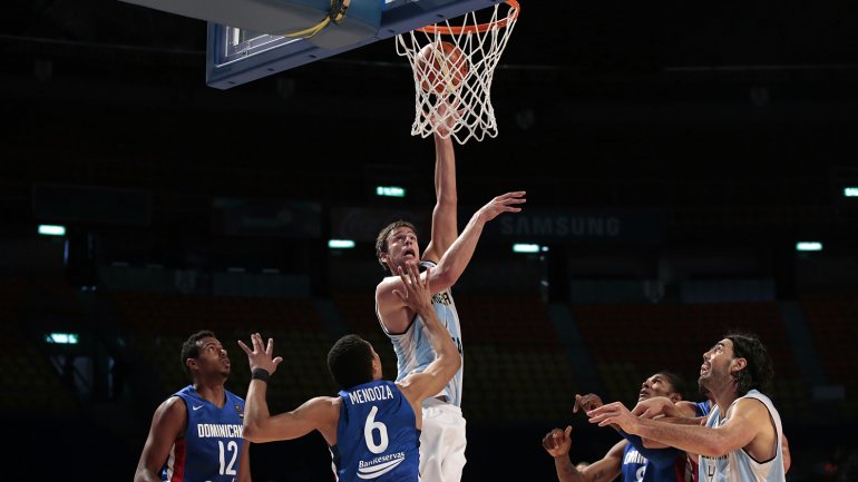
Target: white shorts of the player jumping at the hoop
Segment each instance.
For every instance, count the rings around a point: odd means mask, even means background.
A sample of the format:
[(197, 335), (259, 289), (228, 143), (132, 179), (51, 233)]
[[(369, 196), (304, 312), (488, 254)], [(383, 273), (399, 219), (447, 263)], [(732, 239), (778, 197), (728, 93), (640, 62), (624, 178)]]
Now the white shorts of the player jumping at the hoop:
[(465, 468), (465, 417), (461, 409), (428, 399), (420, 433), (420, 481), (459, 482)]

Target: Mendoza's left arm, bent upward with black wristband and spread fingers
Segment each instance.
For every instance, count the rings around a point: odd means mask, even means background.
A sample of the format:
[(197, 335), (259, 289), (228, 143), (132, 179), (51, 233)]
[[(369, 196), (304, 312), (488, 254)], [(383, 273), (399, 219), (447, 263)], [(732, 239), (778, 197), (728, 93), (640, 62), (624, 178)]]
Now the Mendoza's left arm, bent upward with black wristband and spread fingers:
[(238, 341), (238, 346), (247, 354), (251, 373), (254, 374), (244, 403), (244, 439), (254, 443), (273, 442), (298, 439), (313, 430), (319, 430), (330, 443), (331, 429), (333, 427), (333, 436), (335, 437), (335, 426), (339, 419), (337, 399), (319, 396), (304, 402), (291, 412), (272, 416), (265, 400), (269, 387), (266, 378), (274, 374), (283, 358), (272, 357), (274, 348), (272, 338), (269, 338), (267, 345), (263, 347), (262, 336), (254, 333), (251, 335), (251, 342), (253, 348)]

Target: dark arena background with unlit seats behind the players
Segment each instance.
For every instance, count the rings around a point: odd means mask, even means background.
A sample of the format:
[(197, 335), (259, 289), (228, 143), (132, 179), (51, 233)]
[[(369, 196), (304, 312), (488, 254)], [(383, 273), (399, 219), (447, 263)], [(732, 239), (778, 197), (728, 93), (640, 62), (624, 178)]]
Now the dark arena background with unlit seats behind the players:
[[(462, 480), (556, 480), (540, 440), (567, 424), (573, 461), (599, 459), (618, 435), (573, 415), (576, 393), (633, 403), (661, 368), (693, 387), (732, 328), (773, 356), (788, 481), (858, 480), (858, 7), (626, 3), (521, 0), (499, 135), (457, 145), (460, 226), (527, 190), (454, 288)], [(113, 0), (10, 0), (2, 19), (4, 480), (131, 480), (201, 328), (240, 395), (236, 341), (275, 338), (273, 412), (335, 393), (344, 333), (396, 373), (373, 238), (406, 216), (428, 239), (435, 199), (392, 40), (220, 90), (203, 21)], [(333, 480), (318, 433), (251, 458), (256, 482)]]

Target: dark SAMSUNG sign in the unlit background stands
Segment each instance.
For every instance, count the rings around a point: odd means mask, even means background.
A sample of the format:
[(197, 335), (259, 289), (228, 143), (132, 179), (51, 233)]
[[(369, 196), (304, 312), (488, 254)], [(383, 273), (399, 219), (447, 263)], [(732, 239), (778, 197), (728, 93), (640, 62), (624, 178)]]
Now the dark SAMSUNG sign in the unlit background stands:
[(664, 218), (655, 213), (526, 209), (486, 225), (485, 238), (569, 243), (661, 243)]

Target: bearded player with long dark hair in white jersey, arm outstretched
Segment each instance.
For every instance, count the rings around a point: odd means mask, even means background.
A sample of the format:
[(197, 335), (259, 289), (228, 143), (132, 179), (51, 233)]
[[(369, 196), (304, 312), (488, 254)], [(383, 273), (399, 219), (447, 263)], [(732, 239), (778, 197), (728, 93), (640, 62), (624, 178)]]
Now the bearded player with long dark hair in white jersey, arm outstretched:
[(698, 454), (704, 482), (784, 482), (783, 427), (762, 392), (773, 376), (759, 337), (731, 333), (703, 354), (700, 384), (714, 402), (705, 426), (634, 415), (615, 402), (587, 412), (591, 423)]

